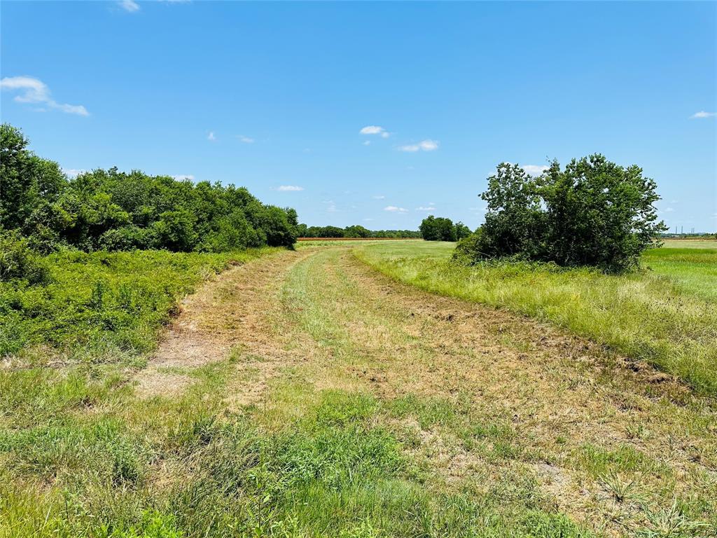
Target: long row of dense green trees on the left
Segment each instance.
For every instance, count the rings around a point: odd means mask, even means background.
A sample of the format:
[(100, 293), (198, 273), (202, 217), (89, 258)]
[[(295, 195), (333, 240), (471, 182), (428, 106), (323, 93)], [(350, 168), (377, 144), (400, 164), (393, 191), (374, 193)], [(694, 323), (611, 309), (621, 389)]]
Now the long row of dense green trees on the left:
[(262, 204), (243, 187), (116, 168), (68, 179), (27, 149), (19, 129), (3, 124), (0, 138), (0, 230), (39, 252), (224, 252), (296, 240), (295, 210)]

